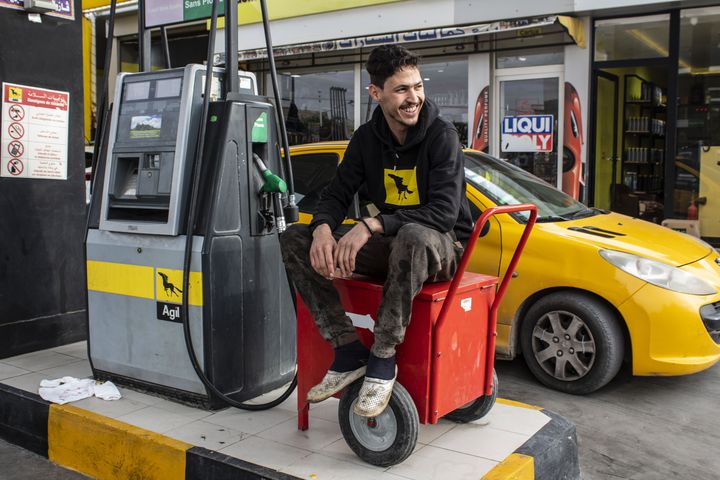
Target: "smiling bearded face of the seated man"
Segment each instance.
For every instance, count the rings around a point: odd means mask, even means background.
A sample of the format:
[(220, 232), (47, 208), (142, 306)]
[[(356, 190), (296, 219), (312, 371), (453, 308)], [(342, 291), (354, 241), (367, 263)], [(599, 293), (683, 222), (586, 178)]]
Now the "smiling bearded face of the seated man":
[(416, 67), (399, 69), (382, 87), (371, 84), (368, 91), (382, 108), (390, 131), (401, 144), (404, 143), (408, 129), (418, 122), (425, 102), (420, 71)]

